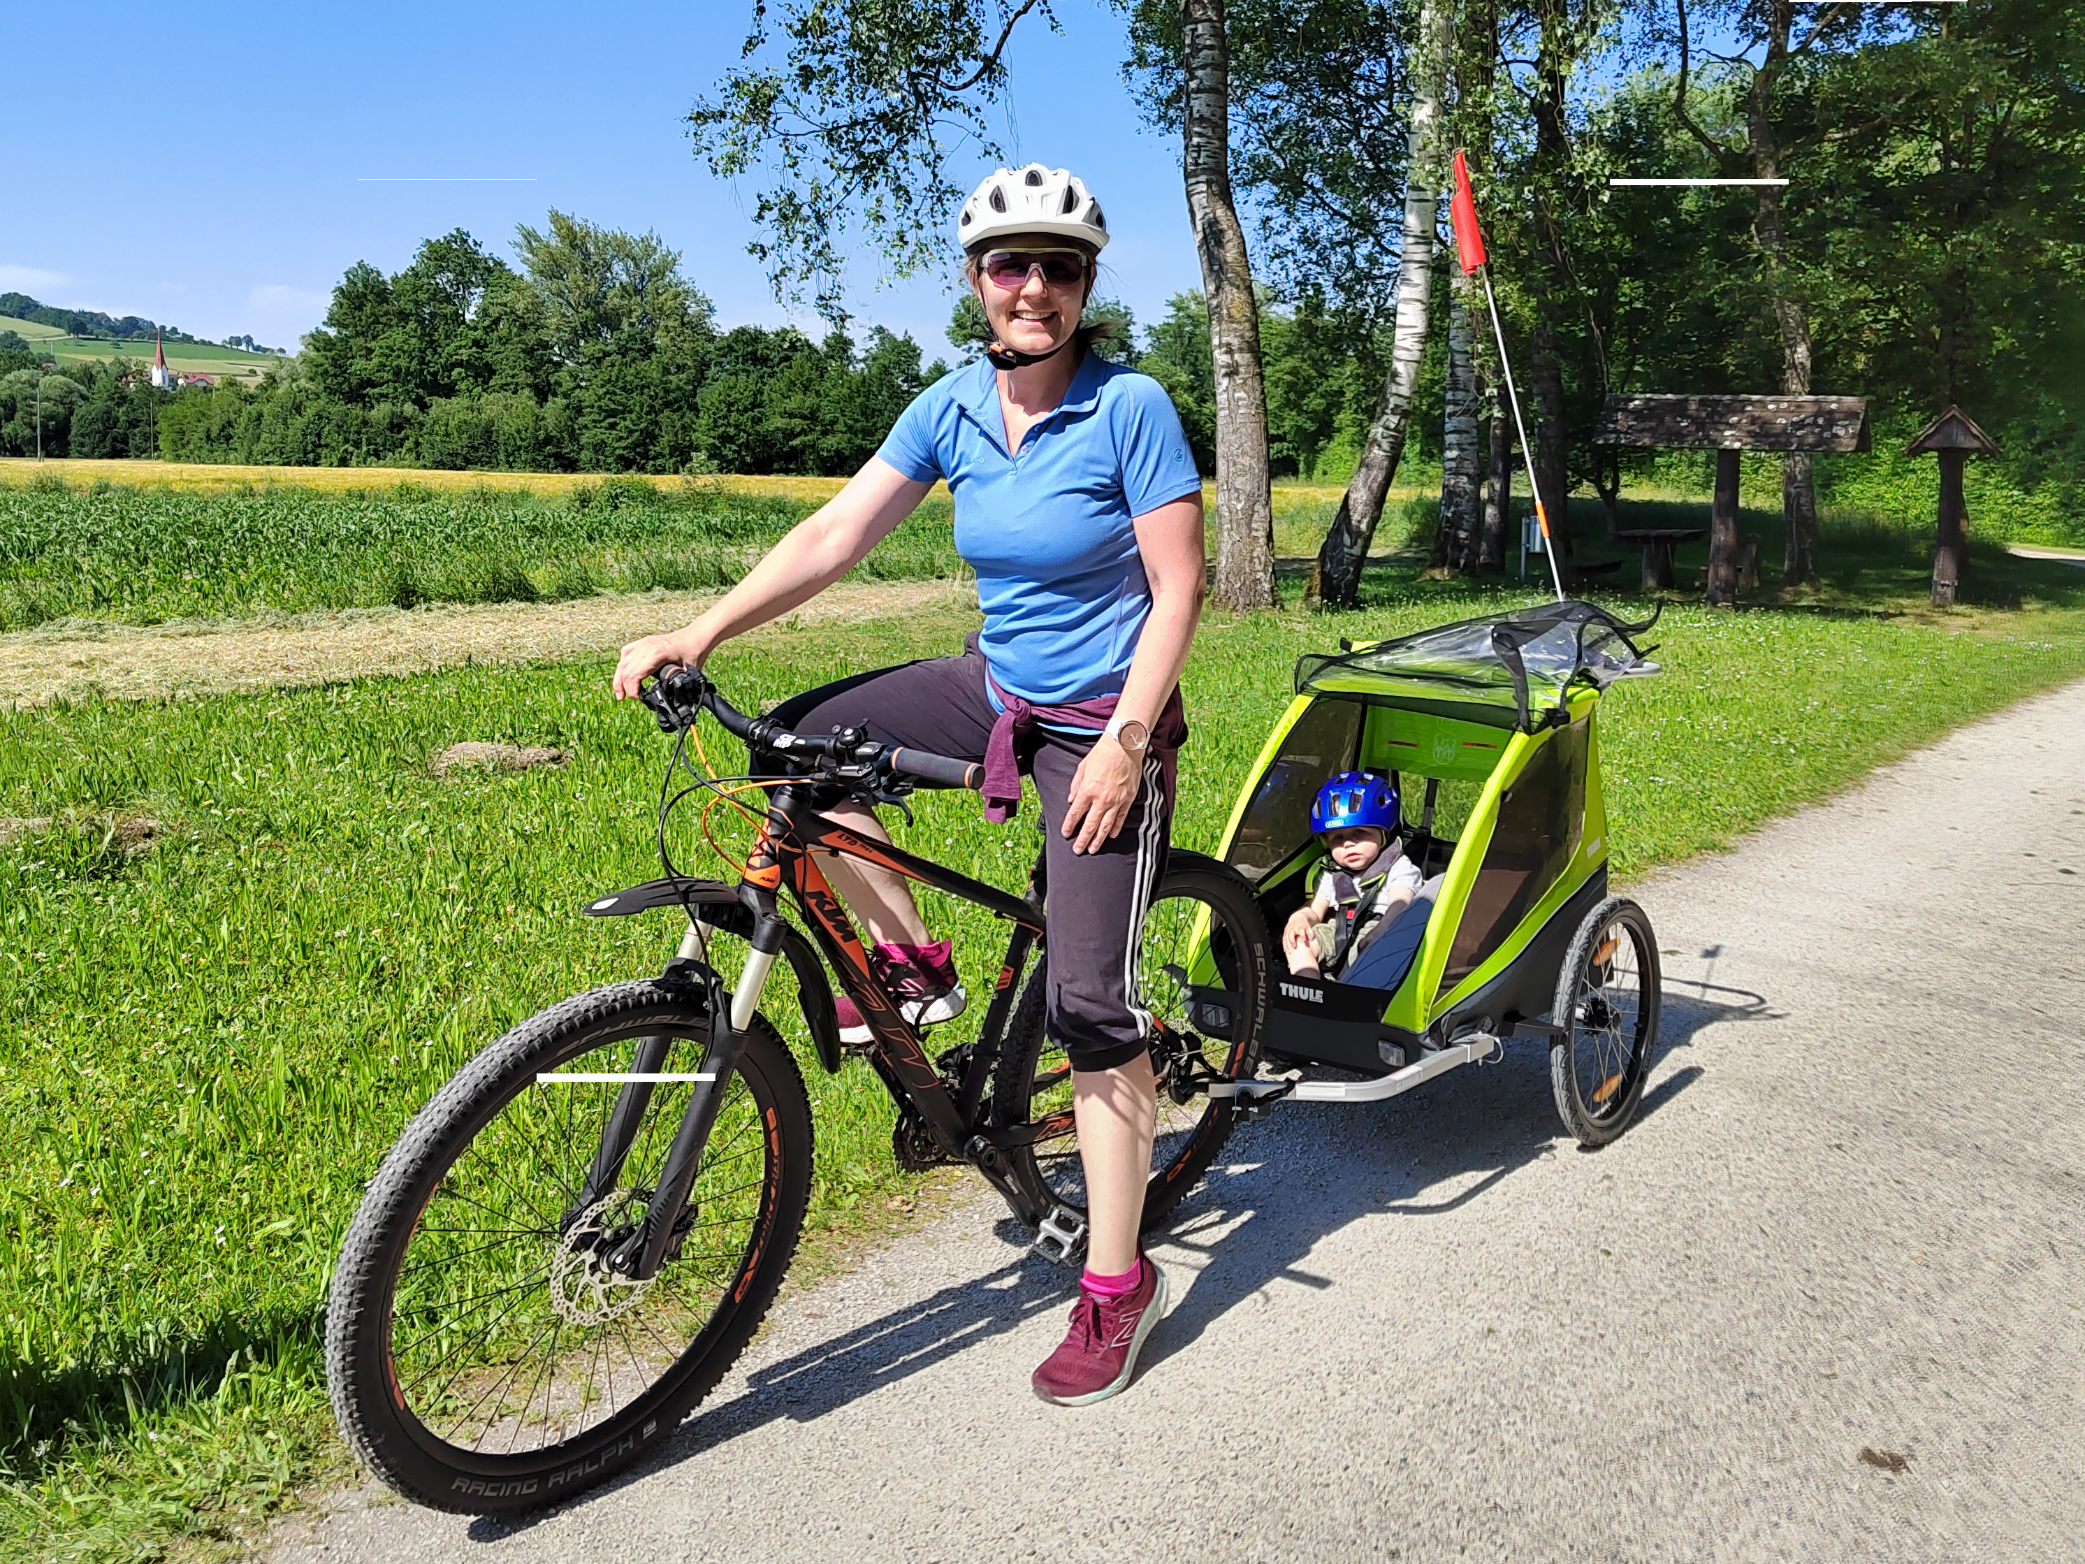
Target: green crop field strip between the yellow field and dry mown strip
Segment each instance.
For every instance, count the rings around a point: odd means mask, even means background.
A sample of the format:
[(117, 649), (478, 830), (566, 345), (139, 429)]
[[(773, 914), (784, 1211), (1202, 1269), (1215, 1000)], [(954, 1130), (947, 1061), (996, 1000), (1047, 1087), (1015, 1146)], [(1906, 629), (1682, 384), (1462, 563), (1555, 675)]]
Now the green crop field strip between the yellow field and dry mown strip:
[[(726, 586), (811, 509), (715, 484), (659, 490), (617, 478), (559, 498), (413, 484), (0, 484), (0, 630)], [(959, 569), (949, 503), (928, 500), (859, 573)]]

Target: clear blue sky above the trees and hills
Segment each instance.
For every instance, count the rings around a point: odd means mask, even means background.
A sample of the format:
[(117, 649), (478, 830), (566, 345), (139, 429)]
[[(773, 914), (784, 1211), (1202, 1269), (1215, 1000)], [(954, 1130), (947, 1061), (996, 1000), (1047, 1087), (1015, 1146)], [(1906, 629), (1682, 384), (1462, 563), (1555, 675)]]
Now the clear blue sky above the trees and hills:
[[(396, 271), (452, 227), (511, 259), (515, 223), (559, 206), (657, 229), (726, 325), (782, 323), (792, 317), (744, 252), (755, 188), (711, 179), (680, 123), (738, 58), (751, 8), (25, 6), (8, 23), (17, 173), (0, 290), (294, 348), (354, 261)], [(1093, 184), (1115, 234), (1109, 290), (1153, 321), (1199, 286), (1178, 146), (1136, 119), (1113, 13), (1099, 0), (1059, 13), (1063, 35), (1024, 23), (1001, 146), (1015, 165), (1068, 165)], [(990, 169), (959, 167), (965, 179)], [(942, 279), (878, 292), (876, 275), (867, 256), (855, 269), (859, 321), (909, 329), (928, 357), (947, 350)]]

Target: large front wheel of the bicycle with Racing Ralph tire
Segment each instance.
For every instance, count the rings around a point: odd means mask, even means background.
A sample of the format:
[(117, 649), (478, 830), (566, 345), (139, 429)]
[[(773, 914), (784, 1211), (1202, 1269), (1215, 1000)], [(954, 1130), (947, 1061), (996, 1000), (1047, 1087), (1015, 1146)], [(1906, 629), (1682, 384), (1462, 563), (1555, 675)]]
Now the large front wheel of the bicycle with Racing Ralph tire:
[[(334, 1272), (325, 1368), (350, 1449), (402, 1497), (502, 1514), (613, 1476), (665, 1441), (767, 1314), (803, 1230), (813, 1130), (796, 1059), (763, 1016), (717, 1093), (673, 1257), (644, 1285), (590, 1266), (592, 1249), (642, 1209), (642, 1180), (657, 1172), (690, 1086), (653, 1086), (615, 1187), (575, 1212), (600, 1145), (588, 1128), (592, 1093), (536, 1076), (573, 1061), (600, 1072), (613, 1059), (628, 1072), (646, 1036), (671, 1038), (669, 1061), (646, 1068), (692, 1072), (709, 1038), (707, 993), (682, 980), (619, 982), (521, 1022), (434, 1095), (371, 1180)], [(596, 1091), (613, 1103), (621, 1089)], [(538, 1149), (540, 1168), (528, 1162)], [(494, 1291), (465, 1291), (480, 1285)], [(484, 1324), (492, 1310), (505, 1314)], [(567, 1328), (573, 1349), (561, 1358)], [(548, 1370), (530, 1368), (517, 1401), (511, 1387), (544, 1335)], [(517, 1341), (528, 1343), (519, 1355)], [(507, 1445), (496, 1451), (486, 1431), (463, 1443), (488, 1397), (488, 1431)]]

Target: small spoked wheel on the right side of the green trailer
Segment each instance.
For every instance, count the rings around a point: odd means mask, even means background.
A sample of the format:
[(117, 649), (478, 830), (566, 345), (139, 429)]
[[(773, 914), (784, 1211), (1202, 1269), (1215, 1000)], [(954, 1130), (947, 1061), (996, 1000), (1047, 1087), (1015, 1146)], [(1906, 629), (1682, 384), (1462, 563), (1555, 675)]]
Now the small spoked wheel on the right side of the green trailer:
[(1637, 1116), (1658, 1051), (1658, 938), (1643, 907), (1608, 897), (1572, 936), (1549, 1020), (1557, 1114), (1578, 1145), (1608, 1145)]

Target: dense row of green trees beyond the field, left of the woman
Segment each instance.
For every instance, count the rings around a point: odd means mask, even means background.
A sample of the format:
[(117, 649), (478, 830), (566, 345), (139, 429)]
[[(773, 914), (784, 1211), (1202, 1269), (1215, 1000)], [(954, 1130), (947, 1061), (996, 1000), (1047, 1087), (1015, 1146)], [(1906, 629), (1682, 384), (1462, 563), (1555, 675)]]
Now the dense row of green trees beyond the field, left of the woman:
[[(469, 234), (396, 275), (359, 263), (325, 325), (259, 390), (186, 390), (161, 415), (179, 461), (519, 471), (847, 473), (942, 367), (872, 329), (719, 334), (655, 234), (553, 211), (521, 269)], [(46, 448), (48, 442), (46, 442)]]

